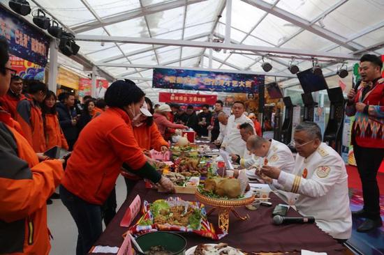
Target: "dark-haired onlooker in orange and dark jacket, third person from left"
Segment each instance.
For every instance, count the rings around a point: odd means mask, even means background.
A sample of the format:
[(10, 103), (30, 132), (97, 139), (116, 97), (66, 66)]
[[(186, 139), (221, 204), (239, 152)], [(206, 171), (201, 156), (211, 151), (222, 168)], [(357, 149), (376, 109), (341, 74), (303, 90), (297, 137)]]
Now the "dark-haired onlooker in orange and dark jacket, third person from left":
[(29, 83), (29, 95), (31, 100), (21, 100), (17, 104), (16, 121), (22, 126), (25, 138), (29, 141), (36, 153), (42, 153), (46, 149), (43, 116), (40, 103), (47, 95), (47, 85), (38, 80)]

